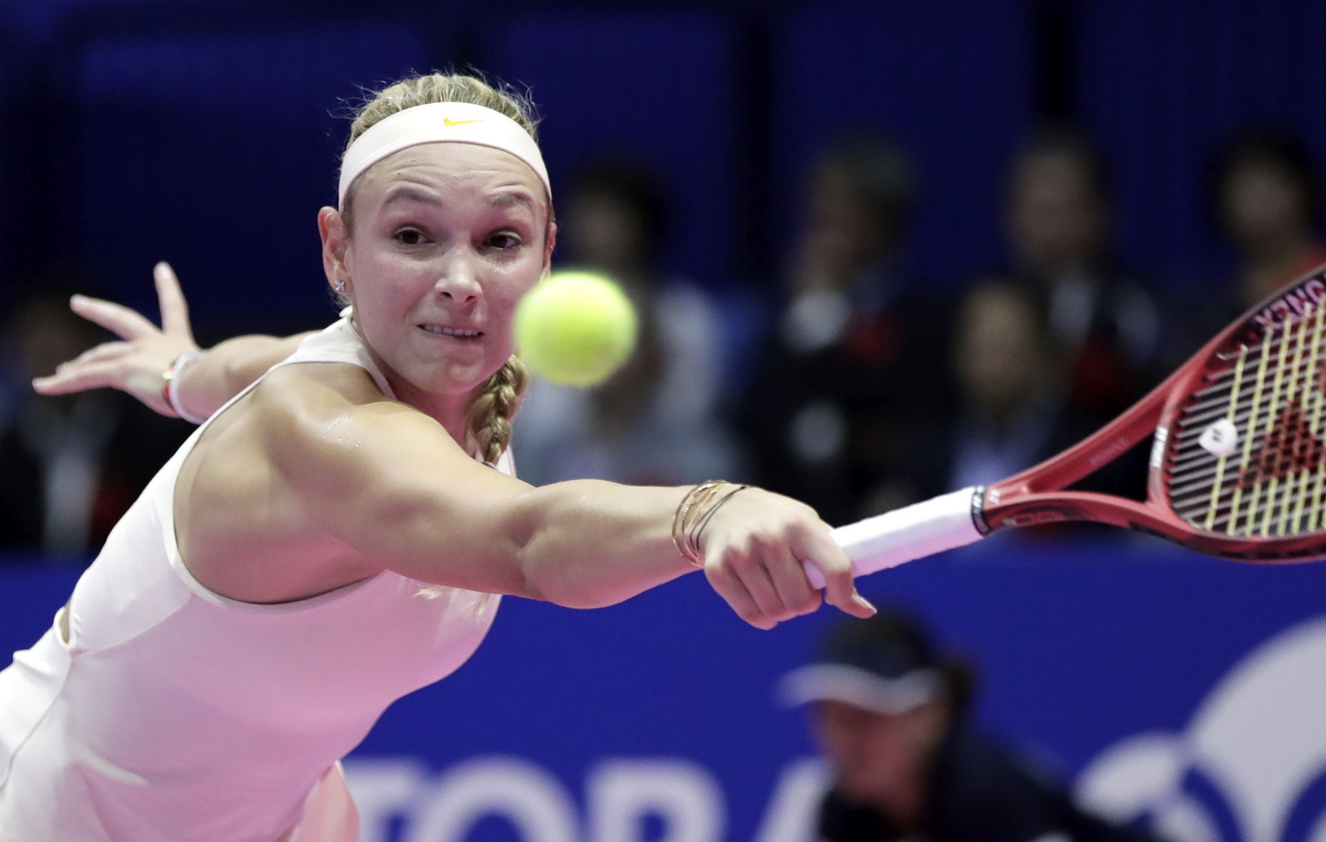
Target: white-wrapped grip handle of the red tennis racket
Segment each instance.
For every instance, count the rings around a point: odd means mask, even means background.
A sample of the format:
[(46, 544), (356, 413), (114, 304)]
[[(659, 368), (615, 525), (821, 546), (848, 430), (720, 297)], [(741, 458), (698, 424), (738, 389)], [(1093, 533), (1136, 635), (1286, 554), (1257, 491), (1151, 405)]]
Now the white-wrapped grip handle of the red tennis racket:
[[(964, 546), (983, 537), (976, 528), (973, 507), (980, 505), (984, 491), (973, 485), (867, 517), (834, 529), (833, 538), (851, 558), (854, 577)], [(802, 565), (810, 583), (823, 587), (819, 568), (810, 562)]]

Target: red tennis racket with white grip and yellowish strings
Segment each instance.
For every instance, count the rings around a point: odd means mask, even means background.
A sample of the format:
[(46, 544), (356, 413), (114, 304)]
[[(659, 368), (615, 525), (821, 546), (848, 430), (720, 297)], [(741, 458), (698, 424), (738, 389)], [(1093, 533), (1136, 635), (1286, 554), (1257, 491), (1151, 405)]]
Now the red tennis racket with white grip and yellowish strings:
[[(1256, 564), (1326, 557), (1326, 265), (1211, 339), (1106, 427), (992, 485), (834, 530), (865, 575), (1036, 524), (1091, 521)], [(1065, 491), (1152, 436), (1146, 500)], [(823, 586), (806, 565), (812, 583)]]

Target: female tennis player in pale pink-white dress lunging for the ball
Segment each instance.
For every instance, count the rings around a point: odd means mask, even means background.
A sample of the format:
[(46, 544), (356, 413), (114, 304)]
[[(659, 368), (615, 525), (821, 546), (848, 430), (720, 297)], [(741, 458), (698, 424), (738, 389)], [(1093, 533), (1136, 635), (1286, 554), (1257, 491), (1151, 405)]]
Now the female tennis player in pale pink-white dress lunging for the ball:
[[(503, 594), (603, 606), (703, 566), (769, 629), (818, 606), (810, 561), (830, 603), (873, 613), (793, 500), (511, 476), (512, 312), (556, 236), (514, 97), (460, 76), (383, 90), (318, 231), (349, 314), (195, 431), (0, 672), (0, 838), (354, 839), (338, 758), (469, 658)], [(167, 304), (149, 345), (179, 339), (183, 302)], [(290, 342), (239, 339), (174, 386), (233, 391)]]

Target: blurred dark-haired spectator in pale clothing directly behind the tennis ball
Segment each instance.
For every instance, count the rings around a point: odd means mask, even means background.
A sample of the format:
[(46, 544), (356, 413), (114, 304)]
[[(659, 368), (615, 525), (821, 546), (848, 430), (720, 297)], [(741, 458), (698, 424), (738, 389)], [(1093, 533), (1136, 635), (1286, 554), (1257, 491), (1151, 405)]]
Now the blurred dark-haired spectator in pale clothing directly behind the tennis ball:
[(562, 208), (558, 248), (626, 289), (639, 338), (626, 366), (594, 390), (534, 383), (514, 426), (521, 479), (672, 485), (740, 476), (741, 452), (716, 408), (721, 318), (708, 294), (660, 269), (660, 186), (634, 162), (603, 162), (572, 180)]

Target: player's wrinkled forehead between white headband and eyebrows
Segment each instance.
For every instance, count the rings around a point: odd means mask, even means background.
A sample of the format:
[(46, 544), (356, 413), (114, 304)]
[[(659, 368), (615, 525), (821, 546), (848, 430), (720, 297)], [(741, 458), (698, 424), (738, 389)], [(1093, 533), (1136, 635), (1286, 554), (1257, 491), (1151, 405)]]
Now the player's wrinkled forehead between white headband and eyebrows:
[(422, 143), (394, 152), (355, 179), (355, 192), (365, 200), (382, 200), (402, 183), (448, 198), (489, 198), (528, 194), (536, 207), (548, 206), (538, 175), (511, 152), (475, 143)]

